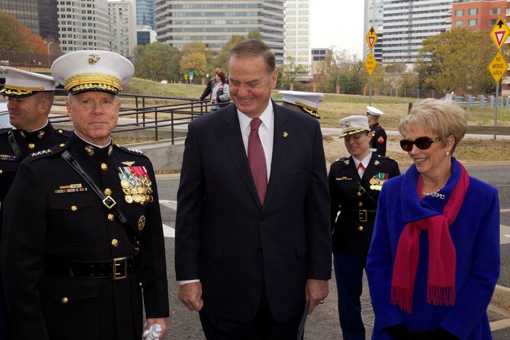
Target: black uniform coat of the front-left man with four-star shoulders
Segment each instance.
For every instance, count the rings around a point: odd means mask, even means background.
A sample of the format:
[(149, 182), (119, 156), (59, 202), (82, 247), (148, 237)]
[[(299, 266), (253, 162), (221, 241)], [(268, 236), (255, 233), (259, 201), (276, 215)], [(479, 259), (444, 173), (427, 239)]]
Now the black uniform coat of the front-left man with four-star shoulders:
[[(94, 147), (89, 155), (87, 146), (72, 134), (68, 144), (28, 158), (20, 164), (7, 195), (1, 259), (15, 339), (138, 340), (143, 327), (142, 288), (146, 317), (169, 315), (165, 246), (152, 165), (138, 150)], [(110, 215), (61, 157), (65, 149), (101, 190), (111, 191), (116, 206), (141, 239), (140, 268), (125, 279), (60, 277), (45, 272), (45, 259), (52, 257), (108, 261), (135, 252), (119, 219)], [(135, 167), (144, 167), (152, 182), (152, 198), (143, 205), (126, 202), (119, 177), (120, 169)]]

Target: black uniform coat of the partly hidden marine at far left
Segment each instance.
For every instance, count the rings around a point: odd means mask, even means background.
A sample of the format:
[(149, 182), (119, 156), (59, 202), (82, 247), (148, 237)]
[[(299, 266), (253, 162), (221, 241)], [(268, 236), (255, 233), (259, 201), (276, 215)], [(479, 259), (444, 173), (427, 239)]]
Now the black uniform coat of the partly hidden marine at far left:
[[(10, 131), (12, 131), (14, 140), (24, 158), (30, 158), (31, 153), (65, 143), (71, 136), (71, 133), (67, 130), (56, 130), (49, 121), (46, 126), (34, 132), (18, 130), (12, 127), (0, 129), (0, 203), (5, 201), (5, 196), (9, 188), (11, 188), (19, 162), (21, 162), (14, 154), (9, 143), (8, 134)], [(1, 204), (0, 232), (2, 230), (3, 211), (4, 204)]]

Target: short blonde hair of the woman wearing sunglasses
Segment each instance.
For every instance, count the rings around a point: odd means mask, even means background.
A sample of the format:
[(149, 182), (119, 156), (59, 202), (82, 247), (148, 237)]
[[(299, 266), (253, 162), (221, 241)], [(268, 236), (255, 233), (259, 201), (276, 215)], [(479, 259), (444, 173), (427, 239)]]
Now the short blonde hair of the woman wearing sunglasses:
[[(458, 143), (468, 130), (468, 116), (460, 105), (450, 99), (427, 98), (413, 105), (413, 108), (400, 119), (398, 130), (405, 138), (406, 132), (418, 126), (426, 132), (441, 137), (441, 145), (446, 147), (446, 138), (455, 137), (450, 151), (453, 154)], [(428, 136), (434, 137), (434, 136)]]

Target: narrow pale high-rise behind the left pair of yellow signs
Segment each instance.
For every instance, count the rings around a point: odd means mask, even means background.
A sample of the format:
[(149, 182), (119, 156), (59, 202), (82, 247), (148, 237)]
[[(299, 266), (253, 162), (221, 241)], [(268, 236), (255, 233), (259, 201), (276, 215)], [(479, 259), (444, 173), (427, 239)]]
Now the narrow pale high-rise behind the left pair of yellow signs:
[[(365, 0), (365, 15), (363, 21), (363, 37), (366, 41), (369, 30), (373, 27), (377, 34), (377, 41), (372, 48), (372, 54), (376, 61), (382, 61), (382, 22), (384, 20), (384, 0)], [(367, 60), (370, 47), (366, 43), (363, 49), (363, 60)], [(361, 57), (361, 56), (359, 56)]]

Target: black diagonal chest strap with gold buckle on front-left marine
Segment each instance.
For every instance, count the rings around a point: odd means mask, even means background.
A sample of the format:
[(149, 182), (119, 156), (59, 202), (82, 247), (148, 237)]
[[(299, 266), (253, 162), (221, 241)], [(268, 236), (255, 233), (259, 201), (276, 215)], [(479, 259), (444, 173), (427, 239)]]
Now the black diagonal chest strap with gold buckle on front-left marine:
[(127, 222), (124, 214), (122, 214), (119, 208), (115, 206), (117, 202), (115, 202), (113, 198), (110, 197), (110, 195), (105, 195), (103, 191), (99, 189), (92, 177), (90, 177), (90, 175), (82, 168), (82, 165), (69, 153), (69, 151), (64, 150), (61, 156), (74, 170), (76, 170), (76, 172), (78, 172), (83, 177), (83, 179), (85, 179), (87, 184), (92, 188), (92, 190), (94, 190), (97, 196), (99, 196), (101, 201), (103, 201), (103, 204), (105, 204), (105, 206), (109, 208), (115, 214), (115, 216), (117, 216), (120, 224), (122, 224), (122, 227), (127, 234), (127, 237), (129, 237), (133, 248), (135, 248), (137, 251), (140, 250), (140, 240), (138, 239), (138, 236), (135, 233), (133, 227), (131, 227), (129, 222)]

